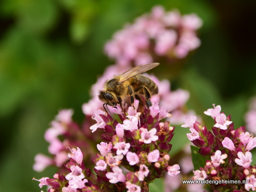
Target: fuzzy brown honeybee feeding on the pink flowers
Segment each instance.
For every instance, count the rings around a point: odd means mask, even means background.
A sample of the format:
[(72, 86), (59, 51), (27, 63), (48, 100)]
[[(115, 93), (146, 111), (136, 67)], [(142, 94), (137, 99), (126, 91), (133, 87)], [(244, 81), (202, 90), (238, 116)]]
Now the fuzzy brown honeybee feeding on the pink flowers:
[(153, 69), (157, 65), (159, 65), (159, 63), (138, 65), (106, 81), (104, 85), (105, 90), (99, 91), (99, 99), (104, 102), (103, 108), (105, 111), (107, 112), (105, 105), (107, 107), (107, 105), (116, 106), (119, 104), (122, 107), (122, 101), (126, 96), (130, 96), (130, 101), (133, 106), (134, 96), (139, 99), (138, 94), (145, 96), (145, 102), (149, 108), (152, 105), (150, 102), (151, 95), (158, 93), (158, 87), (153, 80), (142, 76), (141, 73)]

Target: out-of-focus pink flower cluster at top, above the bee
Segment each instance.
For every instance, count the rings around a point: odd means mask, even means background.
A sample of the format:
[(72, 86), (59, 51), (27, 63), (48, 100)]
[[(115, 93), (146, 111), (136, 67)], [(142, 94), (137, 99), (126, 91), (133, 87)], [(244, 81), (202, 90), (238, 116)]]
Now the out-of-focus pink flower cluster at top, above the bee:
[(201, 45), (196, 30), (202, 23), (196, 14), (181, 16), (178, 11), (165, 12), (162, 6), (155, 6), (150, 14), (117, 31), (105, 52), (122, 66), (151, 63), (159, 56), (182, 59)]

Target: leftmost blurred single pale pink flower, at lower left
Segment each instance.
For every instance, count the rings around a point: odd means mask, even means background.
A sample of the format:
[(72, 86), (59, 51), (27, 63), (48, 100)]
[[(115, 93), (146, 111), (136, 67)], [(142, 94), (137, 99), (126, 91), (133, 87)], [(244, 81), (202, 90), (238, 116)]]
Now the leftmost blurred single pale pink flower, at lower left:
[(47, 166), (52, 164), (53, 164), (52, 158), (39, 153), (35, 156), (35, 164), (33, 165), (33, 169), (37, 172), (42, 172)]

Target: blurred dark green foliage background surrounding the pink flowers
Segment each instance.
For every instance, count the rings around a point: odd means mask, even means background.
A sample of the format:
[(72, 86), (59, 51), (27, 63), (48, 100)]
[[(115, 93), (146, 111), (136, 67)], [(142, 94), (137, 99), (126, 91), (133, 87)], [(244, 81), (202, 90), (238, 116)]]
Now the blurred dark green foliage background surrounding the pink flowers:
[(90, 86), (113, 64), (104, 44), (154, 5), (197, 13), (204, 22), (202, 45), (176, 80), (176, 88), (190, 91), (188, 108), (203, 116), (220, 104), (235, 128), (244, 125), (256, 95), (255, 1), (2, 0), (0, 191), (40, 191), (31, 179), (53, 176), (54, 168), (32, 169), (34, 156), (47, 154), (44, 131), (61, 108), (73, 108), (83, 121)]

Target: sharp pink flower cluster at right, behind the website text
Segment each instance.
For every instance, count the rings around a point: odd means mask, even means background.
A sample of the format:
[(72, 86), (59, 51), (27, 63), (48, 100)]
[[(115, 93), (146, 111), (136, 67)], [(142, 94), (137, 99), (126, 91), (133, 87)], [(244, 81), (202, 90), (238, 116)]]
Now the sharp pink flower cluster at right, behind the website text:
[(230, 121), (230, 115), (221, 113), (218, 105), (205, 111), (212, 116), (215, 124), (212, 132), (196, 121), (195, 116), (186, 118), (182, 127), (188, 127), (191, 133), (187, 133), (188, 139), (199, 147), (199, 154), (205, 159), (204, 168), (194, 171), (193, 179), (208, 180), (247, 180), (244, 185), (219, 184), (212, 185), (214, 191), (232, 190), (249, 191), (256, 189), (255, 166), (251, 165), (251, 150), (256, 147), (256, 137), (247, 131), (245, 127), (234, 130), (234, 124)]

